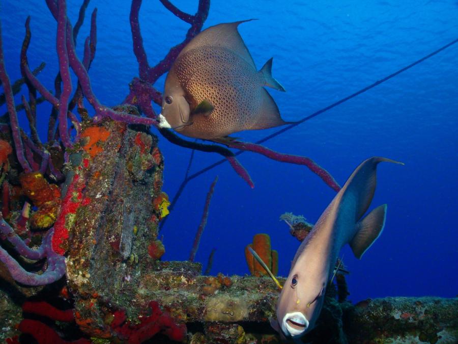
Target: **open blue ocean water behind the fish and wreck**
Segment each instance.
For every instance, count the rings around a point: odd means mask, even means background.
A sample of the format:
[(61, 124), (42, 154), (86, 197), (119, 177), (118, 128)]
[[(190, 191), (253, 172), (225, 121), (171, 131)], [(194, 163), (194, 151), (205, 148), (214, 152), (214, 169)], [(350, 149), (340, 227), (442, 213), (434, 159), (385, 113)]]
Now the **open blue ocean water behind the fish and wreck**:
[[(80, 3), (68, 2), (73, 23)], [(174, 4), (189, 13), (197, 8), (196, 0)], [(45, 2), (7, 0), (0, 6), (11, 80), (20, 77), (23, 23), (31, 15), (33, 37), (28, 59), (32, 68), (46, 62), (39, 78), (53, 89), (58, 70), (56, 23)], [(78, 39), (80, 56), (94, 7), (98, 8), (98, 43), (90, 70), (92, 87), (102, 103), (115, 105), (128, 94), (128, 83), (138, 76), (129, 27), (130, 2), (90, 3)], [(455, 40), (457, 14), (456, 1), (290, 1), (285, 5), (279, 0), (214, 0), (204, 28), (259, 19), (242, 24), (240, 33), (258, 68), (274, 58), (273, 75), (287, 92), (269, 92), (282, 117), (295, 121)], [(145, 1), (140, 27), (149, 62), (154, 65), (183, 40), (188, 24), (159, 2)], [(341, 184), (369, 156), (382, 155), (406, 164), (379, 167), (371, 208), (388, 204), (381, 237), (360, 261), (348, 247), (342, 250), (351, 272), (347, 282), (353, 301), (458, 294), (457, 63), (458, 44), (265, 143), (274, 150), (312, 158)], [(163, 80), (155, 85), (159, 90)], [(2, 108), (2, 114), (5, 111)], [(40, 105), (43, 136), (49, 112), (49, 105)], [(20, 116), (27, 128), (24, 114)], [(254, 142), (274, 131), (246, 131), (236, 136)], [(191, 152), (162, 138), (159, 146), (165, 156), (164, 191), (173, 197)], [(191, 173), (218, 160), (216, 154), (196, 152)], [(244, 248), (255, 233), (265, 232), (279, 252), (279, 274), (287, 275), (299, 243), (279, 216), (291, 211), (314, 222), (335, 193), (305, 167), (249, 152), (239, 160), (255, 188), (251, 190), (227, 163), (190, 181), (161, 231), (164, 259), (188, 259), (210, 183), (219, 175), (196, 260), (205, 266), (210, 251), (216, 248), (212, 274), (246, 274)]]

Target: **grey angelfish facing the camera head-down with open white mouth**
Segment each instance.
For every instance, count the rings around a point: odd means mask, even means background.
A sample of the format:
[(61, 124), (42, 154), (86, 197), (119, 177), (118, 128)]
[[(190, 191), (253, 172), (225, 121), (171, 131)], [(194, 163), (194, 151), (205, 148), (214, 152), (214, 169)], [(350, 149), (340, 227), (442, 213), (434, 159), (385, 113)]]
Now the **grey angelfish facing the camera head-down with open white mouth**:
[(377, 156), (365, 160), (297, 250), (278, 298), (277, 319), (271, 319), (272, 327), (282, 336), (296, 339), (314, 327), (342, 246), (350, 244), (355, 256), (361, 258), (382, 233), (386, 204), (362, 218), (375, 193), (376, 170), (380, 162), (402, 164)]

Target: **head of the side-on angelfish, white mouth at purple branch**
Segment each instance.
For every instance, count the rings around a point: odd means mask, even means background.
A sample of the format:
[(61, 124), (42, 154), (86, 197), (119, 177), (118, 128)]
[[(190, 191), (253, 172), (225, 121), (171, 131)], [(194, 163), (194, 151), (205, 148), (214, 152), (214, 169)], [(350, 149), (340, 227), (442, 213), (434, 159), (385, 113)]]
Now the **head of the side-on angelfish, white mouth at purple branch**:
[(185, 126), (192, 124), (189, 121), (190, 113), (190, 105), (183, 88), (177, 83), (166, 81), (159, 127), (183, 130)]

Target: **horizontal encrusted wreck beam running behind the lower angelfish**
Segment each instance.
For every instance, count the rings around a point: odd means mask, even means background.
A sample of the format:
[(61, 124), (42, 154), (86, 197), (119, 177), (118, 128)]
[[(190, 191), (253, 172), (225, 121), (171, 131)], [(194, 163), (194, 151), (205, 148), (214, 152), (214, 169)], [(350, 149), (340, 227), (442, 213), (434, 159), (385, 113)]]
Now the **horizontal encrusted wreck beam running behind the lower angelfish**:
[[(317, 328), (304, 342), (454, 343), (458, 338), (458, 299), (383, 298), (355, 306), (337, 302), (330, 290)], [(275, 315), (277, 297), (267, 277), (202, 276), (200, 264), (166, 261), (142, 276), (123, 307), (133, 314), (156, 300), (186, 324), (191, 343), (275, 343), (280, 340), (269, 317)]]

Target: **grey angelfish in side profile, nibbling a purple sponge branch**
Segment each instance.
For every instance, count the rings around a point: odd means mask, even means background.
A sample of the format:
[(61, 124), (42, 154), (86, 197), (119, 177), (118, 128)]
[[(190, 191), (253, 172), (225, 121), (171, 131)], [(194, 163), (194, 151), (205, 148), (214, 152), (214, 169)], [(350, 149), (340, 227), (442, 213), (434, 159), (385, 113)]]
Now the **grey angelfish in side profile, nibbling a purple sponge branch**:
[(210, 27), (180, 52), (165, 80), (159, 127), (224, 141), (237, 131), (291, 123), (264, 89), (284, 91), (272, 77), (272, 59), (256, 70), (237, 31), (242, 22)]

